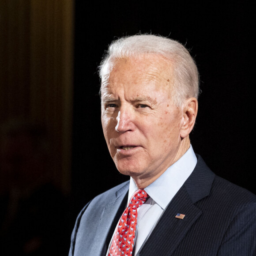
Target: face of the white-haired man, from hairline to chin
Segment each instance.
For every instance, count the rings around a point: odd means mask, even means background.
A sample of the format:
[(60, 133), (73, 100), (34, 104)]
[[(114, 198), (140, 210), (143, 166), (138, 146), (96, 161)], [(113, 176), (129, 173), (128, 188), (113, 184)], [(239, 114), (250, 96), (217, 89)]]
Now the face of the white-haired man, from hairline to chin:
[(102, 83), (102, 127), (120, 173), (150, 184), (177, 160), (183, 115), (172, 96), (172, 68), (162, 57), (114, 63)]

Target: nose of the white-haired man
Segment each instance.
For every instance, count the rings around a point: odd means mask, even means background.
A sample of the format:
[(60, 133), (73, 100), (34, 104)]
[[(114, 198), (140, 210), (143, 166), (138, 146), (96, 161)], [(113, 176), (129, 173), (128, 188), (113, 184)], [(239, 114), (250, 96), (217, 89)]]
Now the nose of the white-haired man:
[(117, 115), (117, 132), (127, 132), (132, 130), (132, 113), (127, 108), (121, 108)]

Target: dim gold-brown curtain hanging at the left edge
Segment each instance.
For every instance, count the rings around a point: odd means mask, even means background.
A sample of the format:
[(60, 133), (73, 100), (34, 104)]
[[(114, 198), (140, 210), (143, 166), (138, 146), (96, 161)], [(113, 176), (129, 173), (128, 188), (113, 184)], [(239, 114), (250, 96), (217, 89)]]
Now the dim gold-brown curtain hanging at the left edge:
[(68, 193), (71, 172), (73, 0), (0, 1), (0, 122), (45, 124), (53, 176)]

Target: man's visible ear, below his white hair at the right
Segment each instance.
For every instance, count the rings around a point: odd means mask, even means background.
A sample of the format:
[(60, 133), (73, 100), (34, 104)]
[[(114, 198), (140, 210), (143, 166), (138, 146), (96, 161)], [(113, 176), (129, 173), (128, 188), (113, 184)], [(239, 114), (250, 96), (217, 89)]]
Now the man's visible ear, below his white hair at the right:
[(184, 139), (192, 131), (198, 109), (198, 102), (196, 98), (188, 98), (182, 107), (183, 110), (183, 124), (181, 127), (181, 138)]

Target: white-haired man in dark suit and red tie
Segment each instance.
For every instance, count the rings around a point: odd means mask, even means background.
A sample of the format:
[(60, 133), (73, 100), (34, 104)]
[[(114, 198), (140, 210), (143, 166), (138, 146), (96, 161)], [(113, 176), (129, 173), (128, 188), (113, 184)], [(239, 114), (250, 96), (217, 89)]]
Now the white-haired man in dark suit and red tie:
[(87, 203), (69, 255), (256, 255), (256, 196), (217, 177), (190, 144), (199, 79), (184, 46), (120, 38), (99, 73), (105, 140), (130, 181)]

